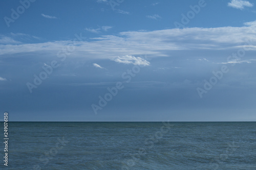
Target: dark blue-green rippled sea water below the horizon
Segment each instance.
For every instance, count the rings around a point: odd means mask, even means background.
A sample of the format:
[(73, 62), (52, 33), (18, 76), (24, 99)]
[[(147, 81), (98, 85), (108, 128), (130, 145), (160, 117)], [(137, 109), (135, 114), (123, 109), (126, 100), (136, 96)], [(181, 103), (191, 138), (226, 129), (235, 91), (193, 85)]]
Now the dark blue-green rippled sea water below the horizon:
[(0, 169), (256, 169), (255, 122), (9, 122), (8, 130)]

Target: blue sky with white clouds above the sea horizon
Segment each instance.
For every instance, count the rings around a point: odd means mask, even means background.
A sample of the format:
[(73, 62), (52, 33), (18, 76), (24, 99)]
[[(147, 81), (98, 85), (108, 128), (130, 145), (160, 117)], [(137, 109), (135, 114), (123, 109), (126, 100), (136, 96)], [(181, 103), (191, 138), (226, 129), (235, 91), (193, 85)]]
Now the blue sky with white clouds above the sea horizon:
[(253, 1), (1, 1), (10, 121), (256, 121)]

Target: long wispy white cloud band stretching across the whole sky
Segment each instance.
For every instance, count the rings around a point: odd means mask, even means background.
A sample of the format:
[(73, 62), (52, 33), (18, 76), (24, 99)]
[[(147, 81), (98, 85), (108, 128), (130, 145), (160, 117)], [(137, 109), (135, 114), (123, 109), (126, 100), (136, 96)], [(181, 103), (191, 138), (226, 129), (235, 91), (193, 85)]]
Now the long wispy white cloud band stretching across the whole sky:
[[(127, 31), (116, 35), (98, 36), (94, 41), (76, 41), (75, 50), (69, 57), (113, 59), (114, 56), (147, 54), (152, 58), (170, 56), (172, 51), (175, 53), (178, 51), (184, 53), (187, 50), (234, 51), (243, 47), (249, 51), (256, 51), (255, 28), (256, 21), (246, 22), (242, 27)], [(246, 42), (249, 44), (245, 45)], [(73, 40), (20, 44), (10, 42), (0, 44), (0, 55), (32, 53), (34, 56), (46, 54), (45, 56), (57, 57), (60, 49), (69, 49), (69, 45), (72, 44)], [(198, 58), (203, 59), (204, 56)]]

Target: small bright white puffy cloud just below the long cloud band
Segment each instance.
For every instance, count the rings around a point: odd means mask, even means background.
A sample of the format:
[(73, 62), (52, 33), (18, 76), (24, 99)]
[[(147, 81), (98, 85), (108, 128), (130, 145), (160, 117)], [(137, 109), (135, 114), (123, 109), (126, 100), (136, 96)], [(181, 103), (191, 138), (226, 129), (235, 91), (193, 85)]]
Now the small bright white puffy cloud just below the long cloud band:
[(115, 62), (124, 63), (124, 64), (134, 64), (134, 65), (144, 65), (144, 66), (150, 65), (150, 62), (146, 61), (143, 58), (129, 56), (129, 55), (113, 58), (112, 60)]

